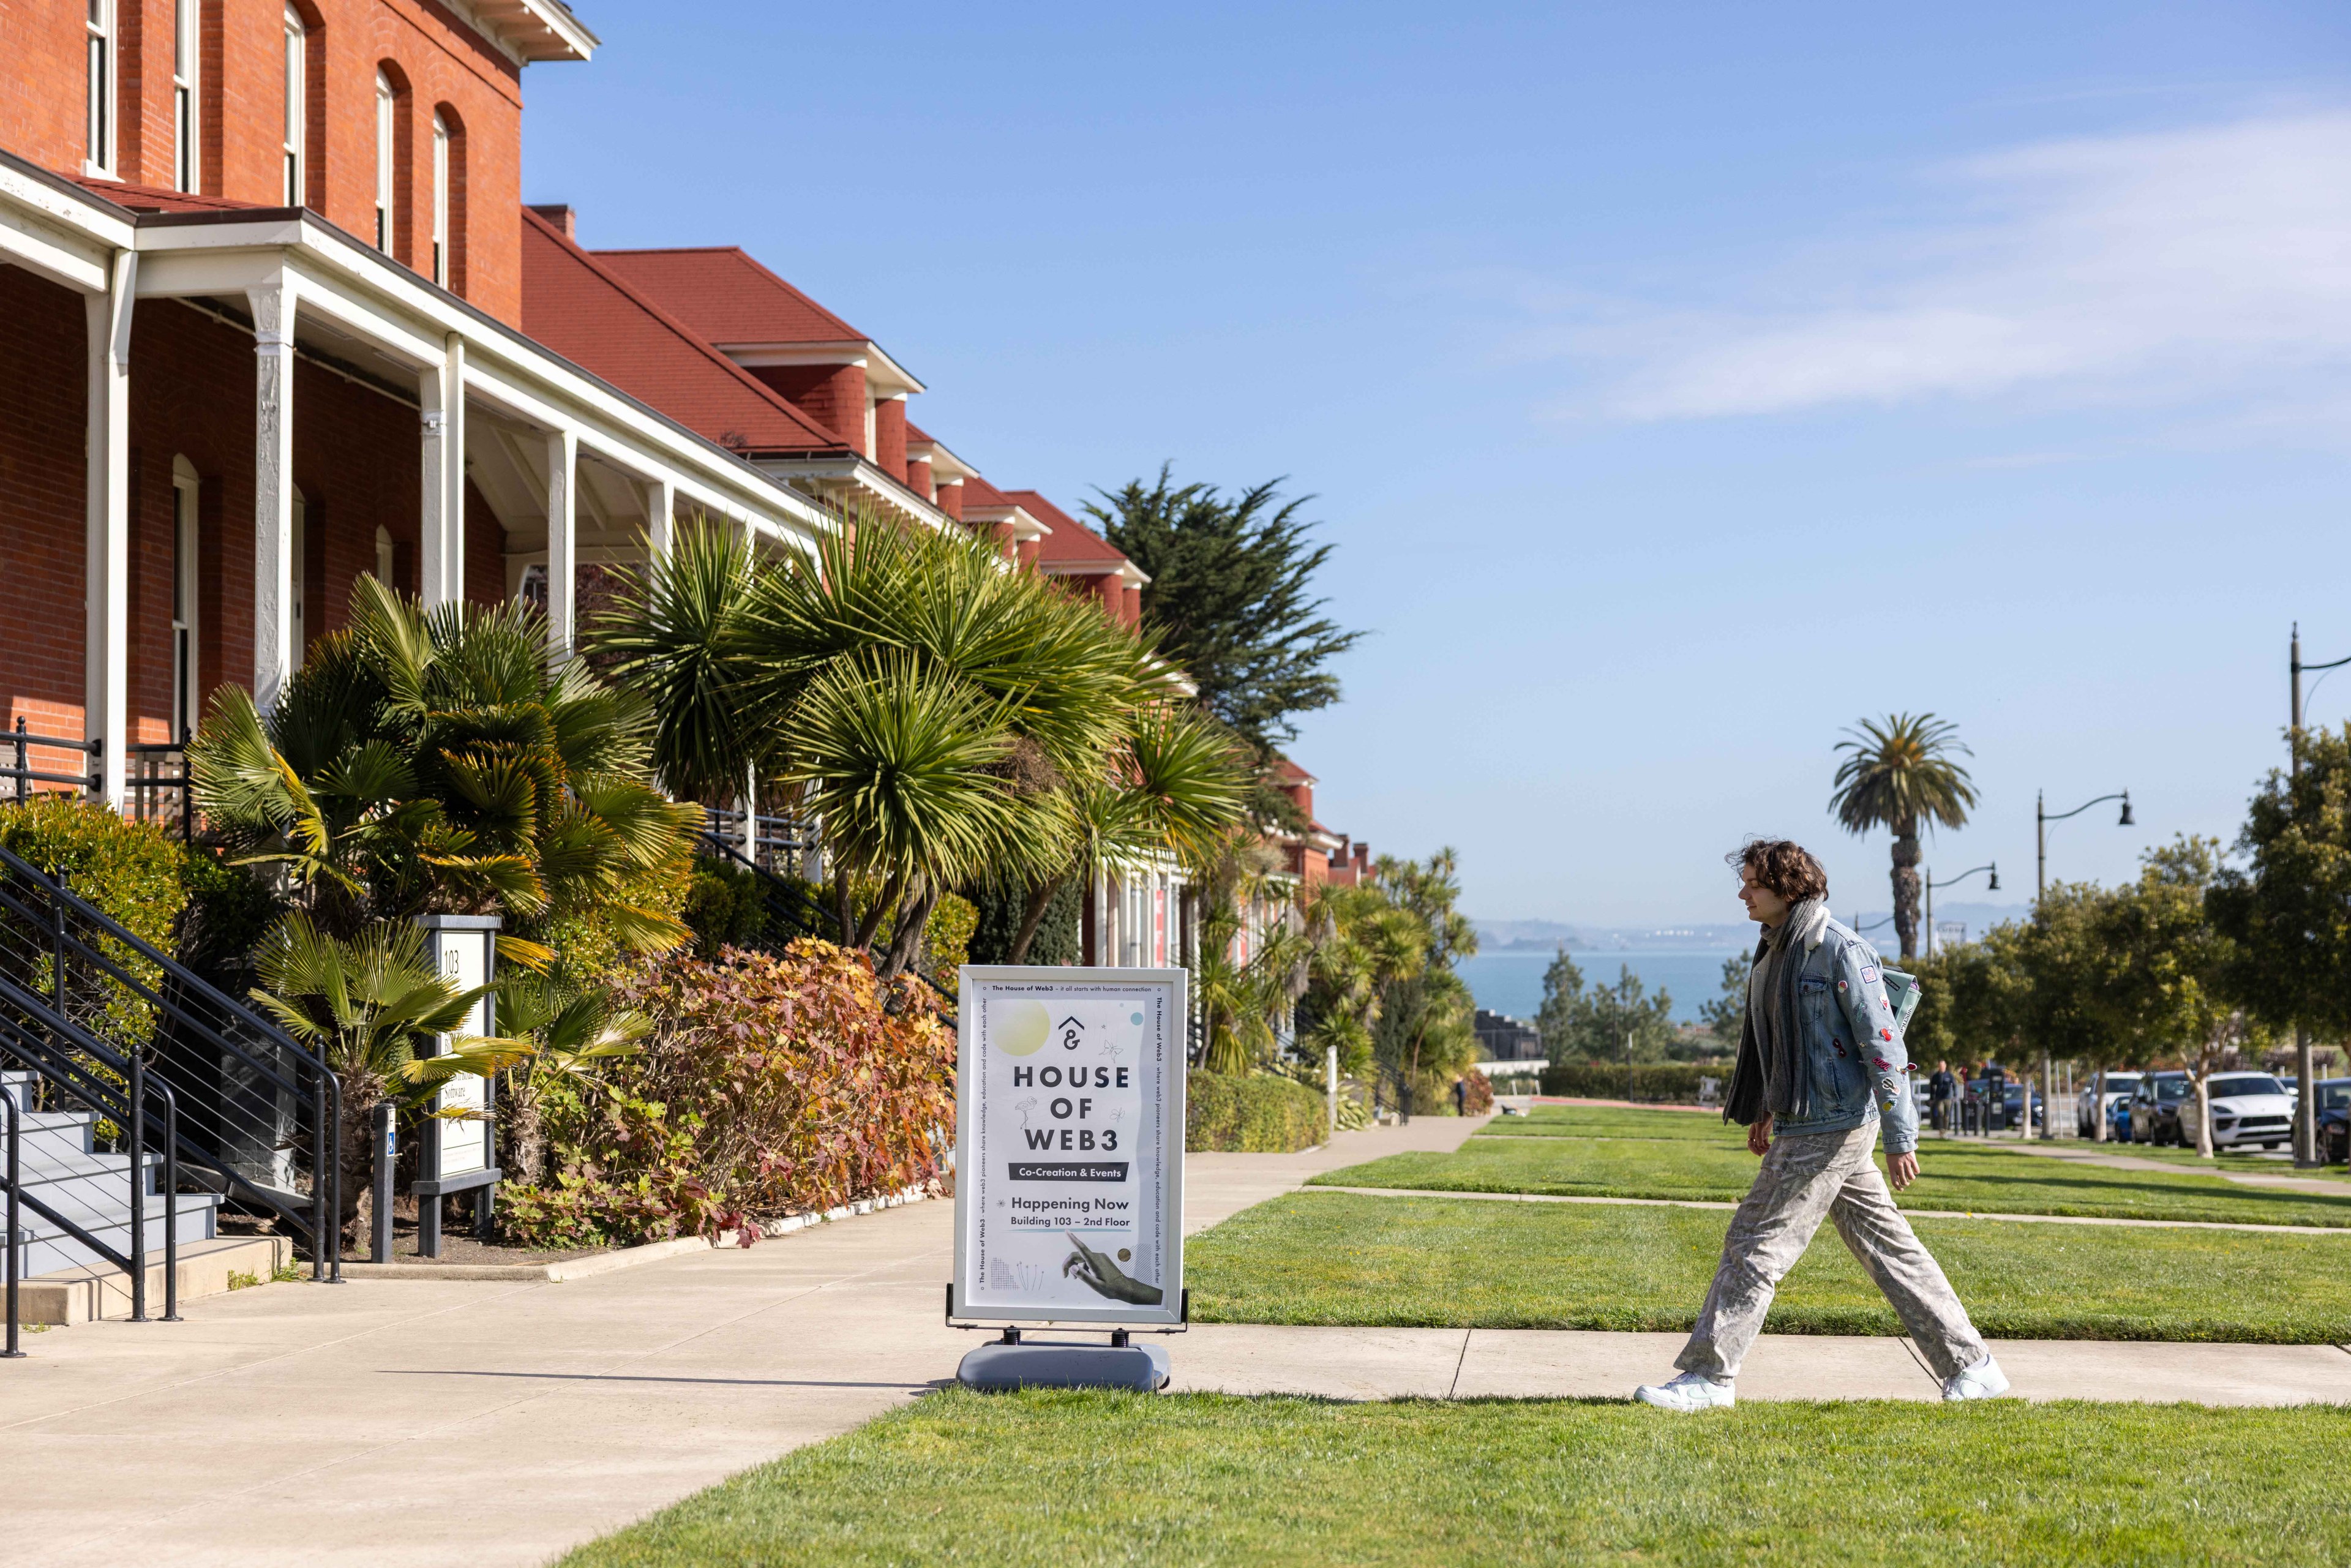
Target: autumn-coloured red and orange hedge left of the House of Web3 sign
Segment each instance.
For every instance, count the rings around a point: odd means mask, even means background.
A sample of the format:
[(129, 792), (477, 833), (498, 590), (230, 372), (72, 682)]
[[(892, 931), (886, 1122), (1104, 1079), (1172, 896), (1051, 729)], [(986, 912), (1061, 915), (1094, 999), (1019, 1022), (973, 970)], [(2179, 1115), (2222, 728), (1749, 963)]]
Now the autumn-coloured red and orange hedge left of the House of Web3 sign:
[(644, 1056), (550, 1093), (555, 1175), (501, 1190), (531, 1246), (647, 1241), (933, 1182), (955, 1138), (955, 1034), (917, 997), (891, 1013), (865, 957), (668, 954), (618, 976), (654, 1018)]

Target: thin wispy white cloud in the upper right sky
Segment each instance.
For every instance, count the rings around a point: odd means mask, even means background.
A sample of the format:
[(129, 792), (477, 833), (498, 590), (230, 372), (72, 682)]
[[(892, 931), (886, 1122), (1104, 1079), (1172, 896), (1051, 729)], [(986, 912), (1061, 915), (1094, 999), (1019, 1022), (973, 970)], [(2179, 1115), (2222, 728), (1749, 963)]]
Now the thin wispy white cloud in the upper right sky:
[[(1951, 216), (1773, 280), (1775, 308), (1573, 334), (1632, 418), (1998, 397), (2198, 400), (2351, 362), (2351, 113), (2052, 141), (1944, 172)], [(1789, 301), (1796, 303), (1789, 303)], [(1815, 303), (1806, 303), (1806, 301)]]

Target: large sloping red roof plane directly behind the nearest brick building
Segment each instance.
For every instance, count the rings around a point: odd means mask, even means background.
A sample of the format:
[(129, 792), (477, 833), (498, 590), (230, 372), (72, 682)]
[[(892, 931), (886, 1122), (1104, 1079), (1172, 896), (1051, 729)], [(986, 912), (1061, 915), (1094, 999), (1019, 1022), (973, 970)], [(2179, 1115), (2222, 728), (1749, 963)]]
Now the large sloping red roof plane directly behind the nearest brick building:
[(741, 454), (849, 454), (560, 228), (522, 209), (522, 329)]

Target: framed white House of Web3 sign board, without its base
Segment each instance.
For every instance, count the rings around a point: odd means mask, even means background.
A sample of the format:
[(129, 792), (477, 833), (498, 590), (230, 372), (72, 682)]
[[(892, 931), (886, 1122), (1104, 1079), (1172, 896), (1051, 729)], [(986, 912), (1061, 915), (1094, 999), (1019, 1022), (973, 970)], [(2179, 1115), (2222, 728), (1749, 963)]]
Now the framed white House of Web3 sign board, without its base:
[(1185, 980), (964, 964), (955, 1316), (1183, 1321)]

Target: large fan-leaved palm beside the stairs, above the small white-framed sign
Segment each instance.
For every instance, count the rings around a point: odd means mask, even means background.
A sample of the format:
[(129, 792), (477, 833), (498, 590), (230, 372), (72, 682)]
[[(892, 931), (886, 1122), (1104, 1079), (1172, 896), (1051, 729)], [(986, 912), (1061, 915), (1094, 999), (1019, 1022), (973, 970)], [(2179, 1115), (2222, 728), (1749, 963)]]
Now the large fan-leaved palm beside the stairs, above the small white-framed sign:
[(545, 964), (524, 938), (576, 945), (578, 922), (649, 952), (686, 938), (649, 893), (701, 813), (654, 788), (649, 724), (581, 661), (550, 668), (529, 604), (426, 611), (362, 576), (268, 719), (214, 693), (188, 766), (242, 860), (284, 867), (329, 933), (496, 910), (498, 950)]

